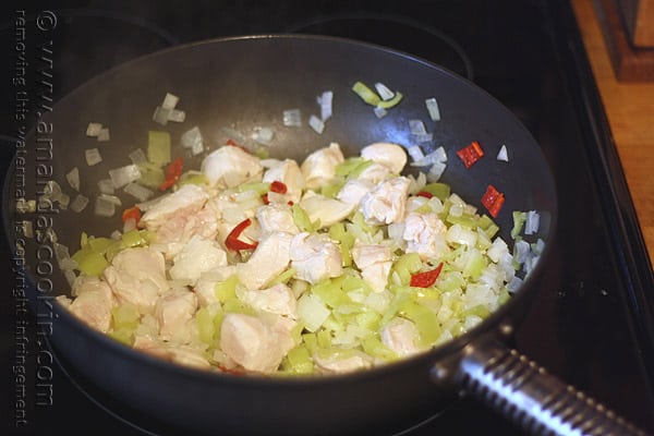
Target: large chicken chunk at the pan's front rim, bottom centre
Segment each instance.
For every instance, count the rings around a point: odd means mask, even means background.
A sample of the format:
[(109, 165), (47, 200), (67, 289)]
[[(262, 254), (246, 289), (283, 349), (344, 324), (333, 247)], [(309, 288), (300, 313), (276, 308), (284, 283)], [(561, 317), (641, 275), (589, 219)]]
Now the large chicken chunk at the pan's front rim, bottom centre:
[(256, 316), (225, 315), (220, 327), (220, 348), (247, 371), (272, 373), (294, 347), (290, 332), (269, 326)]

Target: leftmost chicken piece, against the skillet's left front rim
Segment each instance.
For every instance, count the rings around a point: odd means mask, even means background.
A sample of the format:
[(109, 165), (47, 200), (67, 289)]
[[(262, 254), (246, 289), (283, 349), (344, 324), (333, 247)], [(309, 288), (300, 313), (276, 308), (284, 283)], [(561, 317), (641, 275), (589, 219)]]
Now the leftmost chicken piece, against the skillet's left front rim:
[(116, 300), (111, 288), (97, 277), (80, 276), (73, 283), (69, 310), (88, 326), (106, 334), (111, 327), (111, 308)]

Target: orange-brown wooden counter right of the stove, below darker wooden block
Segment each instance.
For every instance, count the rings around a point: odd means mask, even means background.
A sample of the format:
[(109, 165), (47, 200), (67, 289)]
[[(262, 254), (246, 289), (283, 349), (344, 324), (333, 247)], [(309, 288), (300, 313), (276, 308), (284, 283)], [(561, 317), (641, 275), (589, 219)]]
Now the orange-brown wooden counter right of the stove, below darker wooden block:
[(593, 0), (572, 0), (572, 5), (652, 262), (654, 261), (654, 82), (618, 82), (597, 22)]

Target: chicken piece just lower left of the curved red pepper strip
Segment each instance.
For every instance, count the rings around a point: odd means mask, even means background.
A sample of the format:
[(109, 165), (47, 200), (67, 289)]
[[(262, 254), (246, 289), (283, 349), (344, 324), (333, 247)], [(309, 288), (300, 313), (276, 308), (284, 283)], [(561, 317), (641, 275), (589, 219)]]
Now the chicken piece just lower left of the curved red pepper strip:
[(210, 269), (227, 265), (227, 253), (216, 241), (208, 241), (197, 235), (173, 258), (170, 277), (195, 286), (199, 276)]

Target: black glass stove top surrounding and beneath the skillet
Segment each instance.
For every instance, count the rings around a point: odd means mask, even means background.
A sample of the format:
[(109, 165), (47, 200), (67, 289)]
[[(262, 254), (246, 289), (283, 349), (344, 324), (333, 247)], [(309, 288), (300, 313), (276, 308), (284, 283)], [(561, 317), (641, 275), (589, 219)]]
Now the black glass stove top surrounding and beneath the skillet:
[[(164, 3), (164, 4), (161, 4)], [(72, 4), (72, 3), (71, 3)], [(48, 13), (48, 11), (51, 11)], [(20, 10), (0, 26), (15, 41)], [(11, 14), (10, 14), (11, 15)], [(25, 10), (31, 47), (52, 45), (52, 99), (119, 63), (166, 47), (231, 35), (326, 34), (371, 41), (425, 58), (474, 81), (506, 105), (542, 145), (558, 186), (559, 233), (548, 274), (513, 347), (550, 373), (654, 433), (654, 280), (633, 206), (593, 82), (570, 4), (516, 0), (266, 2), (199, 1), (116, 5), (89, 0)], [(46, 21), (44, 21), (46, 20)], [(49, 20), (49, 21), (48, 21)], [(39, 24), (40, 23), (40, 24)], [(44, 24), (45, 23), (45, 24)], [(56, 25), (52, 26), (52, 23)], [(8, 52), (20, 50), (7, 46)], [(17, 65), (20, 57), (14, 57)], [(36, 74), (35, 71), (27, 74)], [(17, 70), (12, 70), (17, 71)], [(5, 94), (9, 93), (9, 94)], [(13, 89), (3, 89), (13, 101)], [(0, 121), (3, 173), (13, 149), (14, 108)], [(12, 280), (12, 257), (2, 251)], [(172, 435), (183, 431), (140, 416), (84, 379), (56, 352), (36, 363), (45, 342), (16, 337), (20, 295), (2, 292), (2, 351), (27, 350), (26, 425), (20, 434)], [(12, 324), (13, 323), (13, 324)], [(29, 330), (27, 330), (29, 331)], [(33, 362), (29, 362), (29, 361)], [(15, 362), (9, 362), (13, 364)], [(51, 398), (43, 403), (37, 370), (47, 366)], [(11, 370), (10, 370), (11, 371)], [(20, 413), (21, 385), (7, 391)], [(45, 376), (44, 376), (45, 377)], [(8, 378), (8, 377), (4, 377)], [(17, 419), (9, 420), (12, 432)], [(4, 420), (7, 421), (7, 420)], [(401, 434), (520, 435), (502, 417), (462, 397)], [(12, 434), (3, 432), (3, 434)]]

